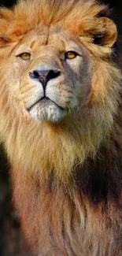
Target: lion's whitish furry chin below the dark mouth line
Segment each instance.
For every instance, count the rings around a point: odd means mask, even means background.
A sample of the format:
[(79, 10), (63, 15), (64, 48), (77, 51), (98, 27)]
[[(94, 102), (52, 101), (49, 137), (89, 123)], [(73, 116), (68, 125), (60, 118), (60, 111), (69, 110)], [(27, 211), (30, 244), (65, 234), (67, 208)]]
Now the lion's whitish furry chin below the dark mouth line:
[(66, 109), (61, 108), (50, 99), (41, 99), (28, 110), (31, 117), (38, 121), (50, 121), (52, 123), (60, 122), (66, 115)]

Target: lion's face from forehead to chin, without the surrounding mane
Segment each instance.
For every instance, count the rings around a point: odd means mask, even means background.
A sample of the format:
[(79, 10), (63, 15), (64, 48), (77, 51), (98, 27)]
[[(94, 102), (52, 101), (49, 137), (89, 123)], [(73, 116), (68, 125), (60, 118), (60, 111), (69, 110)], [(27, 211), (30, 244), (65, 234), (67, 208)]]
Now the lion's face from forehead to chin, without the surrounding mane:
[(85, 105), (91, 60), (69, 32), (30, 32), (14, 48), (7, 83), (32, 118), (59, 122)]

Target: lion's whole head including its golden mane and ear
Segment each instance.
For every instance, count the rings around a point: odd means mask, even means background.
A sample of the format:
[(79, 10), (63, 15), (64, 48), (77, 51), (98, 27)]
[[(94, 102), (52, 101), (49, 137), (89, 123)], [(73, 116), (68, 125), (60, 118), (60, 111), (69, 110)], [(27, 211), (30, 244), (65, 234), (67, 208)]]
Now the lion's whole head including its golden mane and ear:
[(72, 169), (113, 127), (120, 71), (106, 13), (83, 0), (0, 9), (1, 137), (24, 168)]

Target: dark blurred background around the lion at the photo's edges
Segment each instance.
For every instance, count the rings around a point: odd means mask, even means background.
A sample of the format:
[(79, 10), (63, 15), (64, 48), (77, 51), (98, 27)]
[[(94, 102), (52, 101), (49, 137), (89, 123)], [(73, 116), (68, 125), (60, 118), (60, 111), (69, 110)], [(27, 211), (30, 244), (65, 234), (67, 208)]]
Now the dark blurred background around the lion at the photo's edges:
[[(40, 0), (41, 1), (41, 0)], [(51, 0), (50, 0), (51, 1)], [(14, 0), (2, 0), (1, 6), (13, 6)], [(122, 34), (122, 0), (102, 1), (113, 8), (113, 19)], [(12, 204), (12, 191), (9, 179), (9, 164), (0, 147), (0, 256), (29, 256), (24, 235), (20, 230), (17, 211)]]

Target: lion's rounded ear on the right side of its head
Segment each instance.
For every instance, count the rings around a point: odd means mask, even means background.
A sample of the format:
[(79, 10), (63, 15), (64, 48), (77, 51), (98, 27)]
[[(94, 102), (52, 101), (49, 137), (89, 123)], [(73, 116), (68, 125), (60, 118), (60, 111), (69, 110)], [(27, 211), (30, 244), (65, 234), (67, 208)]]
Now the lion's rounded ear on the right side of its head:
[(107, 17), (97, 18), (91, 35), (95, 44), (112, 47), (117, 38), (116, 24)]

